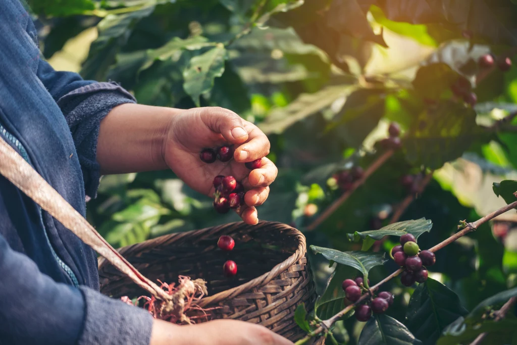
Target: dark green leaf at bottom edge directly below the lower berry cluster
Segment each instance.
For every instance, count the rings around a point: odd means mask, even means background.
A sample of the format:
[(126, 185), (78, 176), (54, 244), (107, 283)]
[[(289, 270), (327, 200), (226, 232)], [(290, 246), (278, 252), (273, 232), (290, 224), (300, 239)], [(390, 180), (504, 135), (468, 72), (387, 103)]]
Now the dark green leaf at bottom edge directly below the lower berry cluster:
[(357, 345), (420, 345), (409, 329), (399, 321), (385, 315), (375, 314), (361, 331)]

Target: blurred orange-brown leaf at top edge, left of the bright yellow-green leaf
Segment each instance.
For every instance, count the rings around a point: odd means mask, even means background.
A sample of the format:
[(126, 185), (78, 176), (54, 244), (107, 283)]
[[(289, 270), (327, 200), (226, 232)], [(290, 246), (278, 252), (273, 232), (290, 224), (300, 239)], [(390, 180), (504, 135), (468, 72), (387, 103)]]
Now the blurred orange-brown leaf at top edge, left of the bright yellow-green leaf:
[(350, 35), (355, 38), (372, 41), (387, 48), (388, 46), (384, 41), (382, 33), (380, 35), (375, 35), (373, 32), (373, 29), (367, 19), (368, 7), (364, 6), (364, 3), (373, 4), (374, 1), (332, 1), (326, 16), (328, 25), (334, 28), (340, 34)]

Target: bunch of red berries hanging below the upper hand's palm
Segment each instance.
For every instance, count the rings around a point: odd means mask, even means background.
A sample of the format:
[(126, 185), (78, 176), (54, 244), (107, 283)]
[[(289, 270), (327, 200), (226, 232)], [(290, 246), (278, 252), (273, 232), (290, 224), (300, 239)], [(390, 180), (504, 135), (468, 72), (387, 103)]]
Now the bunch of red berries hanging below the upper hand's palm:
[(218, 175), (214, 178), (216, 195), (214, 208), (219, 213), (227, 213), (231, 208), (244, 204), (244, 186), (233, 176)]

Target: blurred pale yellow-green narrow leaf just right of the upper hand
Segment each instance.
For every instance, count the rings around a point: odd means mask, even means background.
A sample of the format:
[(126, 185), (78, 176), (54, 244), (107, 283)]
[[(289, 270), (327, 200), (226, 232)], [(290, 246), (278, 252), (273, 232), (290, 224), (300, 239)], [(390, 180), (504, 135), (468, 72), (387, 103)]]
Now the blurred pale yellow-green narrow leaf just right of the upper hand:
[(258, 127), (266, 134), (280, 134), (307, 116), (330, 107), (335, 100), (351, 93), (354, 88), (355, 85), (331, 85), (313, 94), (301, 94), (287, 107), (271, 111)]

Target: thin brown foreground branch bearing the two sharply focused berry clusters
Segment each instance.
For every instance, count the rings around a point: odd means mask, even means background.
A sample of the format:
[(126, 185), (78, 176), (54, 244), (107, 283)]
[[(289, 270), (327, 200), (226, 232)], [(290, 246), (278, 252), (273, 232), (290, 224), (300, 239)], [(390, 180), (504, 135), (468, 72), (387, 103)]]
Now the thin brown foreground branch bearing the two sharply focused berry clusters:
[[(516, 194), (517, 194), (517, 192), (516, 192)], [(483, 223), (485, 223), (485, 222), (487, 222), (487, 221), (489, 221), (489, 220), (491, 220), (491, 219), (493, 219), (493, 218), (495, 218), (495, 217), (497, 217), (497, 216), (499, 216), (499, 215), (501, 215), (501, 214), (503, 214), (503, 213), (505, 213), (507, 211), (510, 211), (510, 209), (513, 209), (515, 207), (517, 207), (517, 201), (514, 201), (511, 204), (508, 204), (508, 205), (506, 205), (504, 207), (501, 207), (497, 211), (494, 211), (494, 212), (492, 212), (492, 213), (490, 213), (490, 214), (488, 214), (488, 215), (486, 215), (486, 216), (476, 220), (473, 223), (464, 223), (465, 226), (464, 226), (463, 230), (461, 230), (461, 231), (451, 235), (449, 238), (445, 239), (445, 241), (442, 241), (442, 242), (438, 243), (436, 246), (430, 248), (429, 251), (436, 252), (436, 251), (444, 248), (445, 246), (447, 246), (447, 245), (451, 244), (452, 242), (456, 241), (458, 238), (460, 238), (462, 236), (465, 236), (466, 234), (468, 234), (471, 231), (475, 231), (477, 228), (479, 228), (479, 226), (481, 224), (483, 224)], [(314, 329), (314, 331), (312, 331), (306, 337), (304, 337), (304, 338), (298, 340), (297, 342), (295, 342), (295, 345), (305, 344), (309, 340), (311, 340), (314, 336), (316, 336), (316, 335), (326, 331), (327, 329), (329, 329), (330, 326), (332, 326), (336, 321), (341, 319), (344, 314), (346, 314), (348, 311), (352, 310), (355, 306), (361, 304), (361, 302), (364, 301), (365, 299), (370, 298), (373, 295), (373, 293), (375, 291), (377, 291), (379, 289), (379, 287), (381, 287), (382, 284), (384, 284), (385, 282), (391, 280), (394, 277), (397, 277), (403, 271), (404, 271), (404, 268), (399, 268), (397, 271), (393, 272), (392, 274), (390, 274), (389, 276), (387, 276), (383, 280), (379, 281), (373, 287), (368, 289), (369, 293), (363, 294), (358, 299), (357, 302), (347, 306), (346, 308), (344, 308), (343, 310), (341, 310), (340, 312), (335, 314), (333, 317), (331, 317), (331, 318), (329, 318), (327, 320), (322, 321), (320, 326), (318, 326), (316, 329)]]

